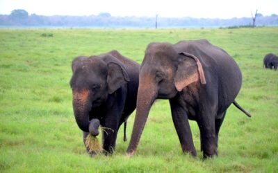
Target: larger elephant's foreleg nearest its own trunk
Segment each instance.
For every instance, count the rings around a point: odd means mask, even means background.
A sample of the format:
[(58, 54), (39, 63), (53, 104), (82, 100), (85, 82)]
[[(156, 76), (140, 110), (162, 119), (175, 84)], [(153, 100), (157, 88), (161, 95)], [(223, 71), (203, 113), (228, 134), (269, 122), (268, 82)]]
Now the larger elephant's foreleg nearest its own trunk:
[(193, 156), (197, 156), (188, 122), (188, 115), (186, 114), (185, 109), (183, 109), (183, 107), (175, 99), (170, 100), (170, 106), (174, 127), (176, 128), (179, 136), (183, 153), (190, 153)]

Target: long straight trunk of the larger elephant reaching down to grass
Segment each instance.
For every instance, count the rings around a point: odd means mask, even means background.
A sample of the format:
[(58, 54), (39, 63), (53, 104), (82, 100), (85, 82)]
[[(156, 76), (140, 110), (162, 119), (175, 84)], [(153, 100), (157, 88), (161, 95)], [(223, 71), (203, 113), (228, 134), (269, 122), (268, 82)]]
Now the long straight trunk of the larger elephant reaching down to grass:
[(147, 122), (149, 110), (157, 96), (157, 86), (152, 82), (139, 82), (137, 104), (136, 104), (136, 117), (133, 124), (133, 130), (131, 134), (131, 140), (129, 147), (126, 150), (126, 154), (133, 155), (136, 152), (142, 131)]

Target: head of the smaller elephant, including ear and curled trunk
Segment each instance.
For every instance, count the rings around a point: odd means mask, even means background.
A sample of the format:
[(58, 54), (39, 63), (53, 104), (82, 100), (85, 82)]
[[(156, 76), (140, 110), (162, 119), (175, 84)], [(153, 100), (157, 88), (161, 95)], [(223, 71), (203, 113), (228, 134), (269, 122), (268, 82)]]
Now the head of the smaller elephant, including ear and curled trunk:
[(72, 73), (70, 86), (76, 123), (81, 130), (97, 136), (101, 117), (93, 115), (94, 109), (126, 84), (129, 76), (121, 62), (111, 55), (76, 57)]

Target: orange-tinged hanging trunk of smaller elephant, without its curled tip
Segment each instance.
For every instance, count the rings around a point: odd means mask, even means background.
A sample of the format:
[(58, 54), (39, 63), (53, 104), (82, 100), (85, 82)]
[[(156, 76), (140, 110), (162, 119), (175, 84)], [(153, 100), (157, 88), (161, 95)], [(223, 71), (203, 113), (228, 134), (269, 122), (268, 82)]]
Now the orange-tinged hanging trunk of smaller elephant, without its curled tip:
[(90, 125), (88, 95), (89, 92), (87, 90), (73, 91), (72, 100), (76, 123), (85, 132), (89, 132)]

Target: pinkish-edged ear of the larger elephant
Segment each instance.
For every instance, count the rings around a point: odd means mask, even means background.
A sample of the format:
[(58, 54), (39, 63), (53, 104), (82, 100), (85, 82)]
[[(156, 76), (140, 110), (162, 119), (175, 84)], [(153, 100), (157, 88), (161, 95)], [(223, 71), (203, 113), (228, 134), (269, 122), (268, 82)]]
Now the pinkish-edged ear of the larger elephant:
[[(203, 66), (199, 59), (190, 53), (182, 52), (179, 55), (183, 55), (183, 58), (179, 58), (177, 72), (174, 77), (174, 86), (176, 86), (177, 91), (181, 91), (188, 84), (198, 80), (201, 84), (206, 84)], [(191, 60), (188, 60), (188, 58), (191, 58)]]

